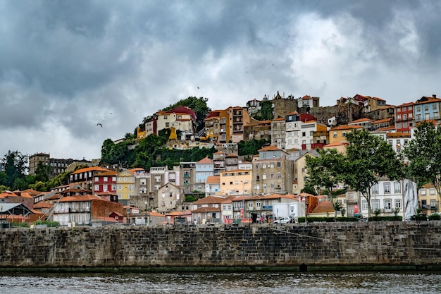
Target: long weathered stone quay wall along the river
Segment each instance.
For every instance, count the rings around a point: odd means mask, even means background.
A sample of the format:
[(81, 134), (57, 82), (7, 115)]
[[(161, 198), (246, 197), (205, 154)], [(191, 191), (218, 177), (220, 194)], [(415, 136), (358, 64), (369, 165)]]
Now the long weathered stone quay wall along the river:
[(1, 269), (441, 268), (441, 221), (0, 230)]

